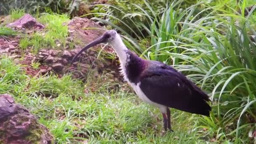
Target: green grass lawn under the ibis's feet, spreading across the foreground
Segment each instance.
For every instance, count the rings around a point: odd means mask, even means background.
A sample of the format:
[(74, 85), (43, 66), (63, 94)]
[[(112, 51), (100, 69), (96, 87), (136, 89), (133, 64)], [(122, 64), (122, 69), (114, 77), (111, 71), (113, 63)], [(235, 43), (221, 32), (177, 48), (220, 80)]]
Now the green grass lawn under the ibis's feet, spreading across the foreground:
[[(205, 143), (214, 139), (199, 127), (198, 116), (175, 109), (171, 109), (175, 132), (163, 135), (159, 110), (141, 102), (128, 85), (108, 79), (101, 75), (82, 83), (71, 75), (29, 77), (12, 59), (0, 59), (0, 93), (13, 95), (16, 103), (27, 107), (59, 144)], [(226, 140), (231, 141), (220, 141)]]

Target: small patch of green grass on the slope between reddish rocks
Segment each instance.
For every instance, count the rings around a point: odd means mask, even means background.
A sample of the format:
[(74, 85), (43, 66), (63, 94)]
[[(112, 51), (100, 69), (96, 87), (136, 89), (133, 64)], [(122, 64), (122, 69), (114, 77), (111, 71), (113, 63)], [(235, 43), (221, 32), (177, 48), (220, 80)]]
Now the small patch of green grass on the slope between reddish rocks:
[[(31, 47), (32, 53), (36, 54), (42, 48), (58, 49), (66, 46), (68, 15), (42, 13), (37, 20), (45, 25), (45, 29), (31, 35), (24, 35), (19, 45), (21, 50)], [(71, 48), (74, 47), (73, 43), (70, 45)]]

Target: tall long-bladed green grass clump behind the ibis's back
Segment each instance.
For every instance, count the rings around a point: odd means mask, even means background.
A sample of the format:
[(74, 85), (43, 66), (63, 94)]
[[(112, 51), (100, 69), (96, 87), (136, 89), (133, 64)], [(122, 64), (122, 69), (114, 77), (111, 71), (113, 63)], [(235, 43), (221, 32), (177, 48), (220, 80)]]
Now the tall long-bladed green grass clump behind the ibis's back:
[[(150, 36), (149, 47), (144, 43), (148, 38), (138, 38), (141, 44), (130, 43), (136, 34), (128, 35), (115, 23), (107, 24), (123, 32), (126, 45), (140, 56), (172, 65), (209, 93), (213, 112), (210, 118), (201, 118), (199, 126), (208, 129), (207, 135), (218, 134), (218, 140), (236, 137), (248, 143), (248, 135), (256, 129), (256, 32), (248, 21), (253, 13), (245, 17), (243, 11), (235, 11), (236, 5), (206, 1), (184, 8), (183, 2), (174, 1), (160, 17), (143, 11), (148, 24), (138, 25)], [(240, 9), (245, 6), (244, 1)]]

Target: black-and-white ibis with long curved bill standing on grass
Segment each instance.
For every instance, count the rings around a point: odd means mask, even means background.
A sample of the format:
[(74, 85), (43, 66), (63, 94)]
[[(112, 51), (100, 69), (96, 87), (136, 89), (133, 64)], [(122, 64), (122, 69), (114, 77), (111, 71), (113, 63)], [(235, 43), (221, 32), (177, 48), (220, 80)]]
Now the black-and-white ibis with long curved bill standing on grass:
[(120, 61), (120, 73), (136, 95), (147, 104), (160, 109), (165, 131), (171, 129), (170, 108), (210, 116), (208, 95), (181, 72), (160, 61), (142, 59), (129, 50), (116, 30), (107, 30), (82, 48), (72, 59), (75, 62), (83, 51), (100, 44), (112, 45)]

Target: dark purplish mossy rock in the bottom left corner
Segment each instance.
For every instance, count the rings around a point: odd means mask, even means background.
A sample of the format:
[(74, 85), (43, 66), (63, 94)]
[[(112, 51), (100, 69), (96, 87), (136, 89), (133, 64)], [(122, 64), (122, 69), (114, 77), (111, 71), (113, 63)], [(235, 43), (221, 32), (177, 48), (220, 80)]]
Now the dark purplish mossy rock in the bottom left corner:
[(15, 104), (8, 94), (0, 95), (0, 143), (1, 144), (51, 144), (53, 135), (37, 122), (37, 118)]

